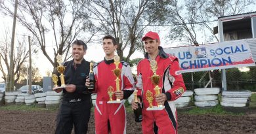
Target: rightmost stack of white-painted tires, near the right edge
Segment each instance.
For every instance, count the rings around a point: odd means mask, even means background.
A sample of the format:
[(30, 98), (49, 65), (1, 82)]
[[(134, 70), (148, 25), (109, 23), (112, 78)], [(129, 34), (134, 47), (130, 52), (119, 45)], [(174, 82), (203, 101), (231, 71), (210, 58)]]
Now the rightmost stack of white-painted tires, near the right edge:
[(226, 110), (232, 108), (247, 108), (249, 107), (250, 97), (251, 91), (249, 90), (223, 91), (221, 93), (221, 106)]

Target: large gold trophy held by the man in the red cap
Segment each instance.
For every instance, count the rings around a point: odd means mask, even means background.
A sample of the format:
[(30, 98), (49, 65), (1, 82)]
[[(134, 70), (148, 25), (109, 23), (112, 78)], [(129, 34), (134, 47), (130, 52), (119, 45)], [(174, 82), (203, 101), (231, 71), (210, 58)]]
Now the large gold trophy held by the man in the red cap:
[[(161, 76), (156, 75), (156, 70), (158, 69), (158, 63), (156, 62), (156, 60), (150, 60), (150, 68), (153, 71), (153, 75), (151, 76), (150, 80), (155, 86), (155, 88), (154, 88), (155, 96), (160, 95), (161, 88), (158, 86), (158, 84), (160, 82)], [(158, 107), (150, 107), (150, 109), (147, 109), (147, 110), (162, 110), (164, 108), (165, 107), (163, 105), (158, 104)]]

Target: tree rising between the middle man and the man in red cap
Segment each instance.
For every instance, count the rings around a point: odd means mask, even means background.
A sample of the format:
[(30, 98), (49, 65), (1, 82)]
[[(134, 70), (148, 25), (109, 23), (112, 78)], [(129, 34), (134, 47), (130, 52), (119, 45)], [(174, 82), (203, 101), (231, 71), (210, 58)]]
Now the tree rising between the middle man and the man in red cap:
[[(117, 39), (120, 58), (129, 61), (135, 50), (143, 47), (140, 40), (146, 27), (164, 23), (170, 4), (171, 0), (91, 0), (84, 6), (89, 7), (102, 33)], [(124, 56), (125, 49), (129, 51), (127, 56)]]

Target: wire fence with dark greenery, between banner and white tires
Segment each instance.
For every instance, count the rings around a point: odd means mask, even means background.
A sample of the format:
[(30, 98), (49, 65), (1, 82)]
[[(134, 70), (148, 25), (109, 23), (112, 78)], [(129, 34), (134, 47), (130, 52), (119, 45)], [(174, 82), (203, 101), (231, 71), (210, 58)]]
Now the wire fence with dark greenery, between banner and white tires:
[[(256, 67), (247, 67), (247, 69), (249, 71), (238, 68), (225, 69), (227, 90), (256, 92)], [(211, 87), (222, 89), (221, 70), (183, 73), (182, 76), (187, 90)]]

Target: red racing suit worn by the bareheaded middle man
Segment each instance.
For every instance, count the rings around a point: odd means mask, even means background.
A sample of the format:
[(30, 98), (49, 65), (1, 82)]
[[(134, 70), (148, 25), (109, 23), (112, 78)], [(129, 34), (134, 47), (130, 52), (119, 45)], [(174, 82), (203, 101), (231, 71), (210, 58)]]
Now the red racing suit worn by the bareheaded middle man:
[[(131, 73), (131, 67), (128, 63), (121, 61), (119, 63), (121, 75), (119, 76), (120, 90), (123, 90), (123, 99), (127, 99), (134, 91), (135, 82)], [(116, 76), (113, 70), (116, 69), (114, 60), (101, 61), (93, 69), (95, 73), (96, 104), (95, 104), (95, 133), (108, 133), (108, 121), (110, 122), (111, 133), (126, 133), (126, 113), (123, 103), (108, 104), (110, 100), (108, 87), (112, 86), (116, 91)], [(113, 100), (116, 96), (113, 95)]]

